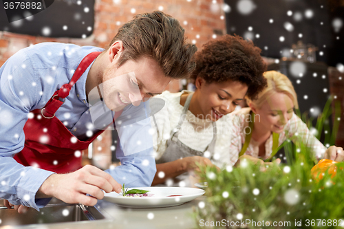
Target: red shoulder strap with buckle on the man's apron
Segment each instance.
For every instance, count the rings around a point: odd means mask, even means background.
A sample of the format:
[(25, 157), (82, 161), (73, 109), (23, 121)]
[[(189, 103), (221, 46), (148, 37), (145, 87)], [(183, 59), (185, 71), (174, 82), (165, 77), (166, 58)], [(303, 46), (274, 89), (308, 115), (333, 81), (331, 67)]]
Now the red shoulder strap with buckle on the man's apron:
[(65, 98), (69, 96), (70, 89), (72, 89), (76, 81), (78, 81), (78, 79), (84, 74), (89, 65), (97, 58), (97, 56), (99, 56), (100, 53), (101, 52), (91, 52), (85, 56), (85, 58), (83, 58), (76, 68), (69, 83), (62, 85), (60, 89), (55, 91), (52, 98), (50, 98), (45, 107), (41, 109), (41, 114), (44, 118), (54, 118), (55, 112), (61, 107), (61, 105), (63, 105)]

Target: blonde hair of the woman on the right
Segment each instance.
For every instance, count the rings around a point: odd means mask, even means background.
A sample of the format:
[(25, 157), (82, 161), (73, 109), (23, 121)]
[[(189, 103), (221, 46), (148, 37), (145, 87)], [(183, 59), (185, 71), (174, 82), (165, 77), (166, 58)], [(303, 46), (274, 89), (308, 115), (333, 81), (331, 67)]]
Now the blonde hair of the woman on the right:
[(268, 86), (266, 86), (261, 93), (258, 94), (257, 99), (250, 100), (246, 98), (247, 103), (255, 105), (257, 108), (261, 108), (263, 103), (273, 96), (275, 93), (283, 93), (289, 96), (289, 98), (294, 102), (296, 109), (299, 109), (299, 104), (297, 103), (297, 93), (292, 86), (292, 82), (288, 79), (287, 76), (276, 71), (264, 72), (264, 77), (268, 81)]

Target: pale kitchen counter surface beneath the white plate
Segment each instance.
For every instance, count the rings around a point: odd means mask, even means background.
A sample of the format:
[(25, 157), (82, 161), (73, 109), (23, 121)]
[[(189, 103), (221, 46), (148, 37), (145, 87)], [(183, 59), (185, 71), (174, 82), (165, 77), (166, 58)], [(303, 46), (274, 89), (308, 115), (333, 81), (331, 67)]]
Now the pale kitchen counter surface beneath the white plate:
[[(123, 208), (108, 201), (99, 200), (98, 206), (100, 208), (98, 209), (105, 215), (105, 219), (67, 223), (31, 224), (27, 226), (1, 226), (0, 224), (0, 229), (190, 229), (196, 228), (195, 219), (192, 217), (193, 207), (205, 199), (206, 197), (202, 196), (180, 206), (166, 208)], [(149, 219), (152, 218), (151, 213), (153, 213), (153, 219)], [(22, 216), (25, 217), (25, 215)]]

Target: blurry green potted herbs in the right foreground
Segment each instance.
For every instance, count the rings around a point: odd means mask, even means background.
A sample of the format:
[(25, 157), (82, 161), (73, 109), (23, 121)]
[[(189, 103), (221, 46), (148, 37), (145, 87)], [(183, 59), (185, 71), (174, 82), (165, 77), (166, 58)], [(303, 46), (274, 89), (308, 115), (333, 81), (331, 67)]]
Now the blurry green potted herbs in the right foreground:
[[(330, 134), (330, 103), (327, 102), (316, 124), (316, 137), (327, 130), (325, 140), (334, 144), (338, 131), (340, 108), (336, 103), (334, 127)], [(306, 116), (303, 116), (306, 118)], [(310, 119), (305, 119), (310, 124)], [(199, 228), (334, 228), (344, 227), (344, 171), (336, 176), (325, 172), (323, 179), (314, 181), (310, 173), (316, 163), (301, 140), (284, 145), (292, 164), (271, 164), (266, 171), (250, 161), (241, 161), (238, 168), (227, 166), (222, 171), (202, 167), (202, 182), (208, 182), (206, 201), (195, 209)], [(336, 164), (344, 168), (344, 162)], [(200, 207), (202, 206), (202, 208)], [(239, 222), (239, 223), (238, 223)], [(255, 222), (255, 223), (253, 223)], [(274, 225), (275, 223), (275, 225)], [(287, 224), (286, 224), (287, 223)]]

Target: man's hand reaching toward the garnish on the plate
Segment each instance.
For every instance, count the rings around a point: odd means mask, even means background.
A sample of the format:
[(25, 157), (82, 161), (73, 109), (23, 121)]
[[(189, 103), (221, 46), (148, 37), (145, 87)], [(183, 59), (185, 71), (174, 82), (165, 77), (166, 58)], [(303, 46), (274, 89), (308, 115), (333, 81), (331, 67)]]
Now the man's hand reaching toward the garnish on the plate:
[[(36, 197), (56, 197), (67, 204), (94, 206), (104, 193), (121, 192), (122, 186), (96, 166), (86, 165), (74, 173), (53, 174), (48, 177)], [(89, 194), (91, 196), (87, 196)]]

